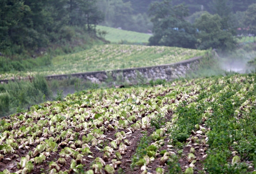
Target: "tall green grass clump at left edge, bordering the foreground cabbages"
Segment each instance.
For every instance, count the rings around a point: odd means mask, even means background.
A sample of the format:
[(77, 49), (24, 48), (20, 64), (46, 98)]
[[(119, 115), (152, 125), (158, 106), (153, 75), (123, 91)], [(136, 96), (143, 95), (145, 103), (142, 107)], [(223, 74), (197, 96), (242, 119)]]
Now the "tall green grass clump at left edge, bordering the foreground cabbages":
[(12, 114), (18, 108), (27, 108), (38, 104), (43, 98), (50, 99), (52, 92), (42, 76), (31, 81), (10, 81), (0, 84), (0, 117)]

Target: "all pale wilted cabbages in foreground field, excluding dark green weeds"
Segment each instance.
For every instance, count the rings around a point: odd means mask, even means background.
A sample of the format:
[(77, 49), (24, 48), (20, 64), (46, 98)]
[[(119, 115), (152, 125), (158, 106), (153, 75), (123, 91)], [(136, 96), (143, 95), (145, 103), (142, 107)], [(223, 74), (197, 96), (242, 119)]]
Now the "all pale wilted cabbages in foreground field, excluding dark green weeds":
[[(237, 75), (230, 79), (232, 83), (239, 83), (246, 78)], [(0, 162), (10, 161), (8, 164), (11, 166), (12, 160), (17, 159), (18, 169), (7, 168), (5, 172), (10, 170), (16, 173), (31, 173), (42, 167), (51, 156), (58, 156), (58, 159), (50, 161), (47, 165), (49, 173), (62, 174), (80, 171), (84, 168), (83, 161), (91, 159), (93, 163), (87, 174), (112, 174), (121, 165), (123, 156), (131, 145), (128, 137), (135, 131), (147, 130), (151, 127), (152, 119), (159, 115), (165, 117), (175, 111), (182, 101), (191, 103), (188, 107), (196, 107), (199, 103), (194, 101), (198, 100), (200, 92), (207, 93), (202, 99), (204, 102), (214, 103), (219, 96), (234, 89), (231, 85), (226, 85), (221, 91), (214, 93), (213, 84), (226, 83), (224, 78), (208, 78), (177, 81), (166, 87), (88, 90), (68, 95), (62, 102), (35, 105), (30, 107), (27, 113), (12, 115), (10, 119), (2, 120), (4, 130), (0, 133)], [(246, 83), (234, 95), (242, 100), (243, 96), (253, 89), (253, 83)], [(235, 102), (233, 101), (233, 104)], [(255, 96), (241, 104), (235, 111), (237, 122), (254, 104)], [(213, 112), (212, 107), (207, 107), (202, 115), (202, 122), (209, 120)], [(165, 126), (152, 133), (154, 141), (147, 148), (147, 154), (137, 163), (141, 172), (146, 173), (150, 168), (157, 158), (159, 148), (166, 143), (162, 137), (171, 134), (169, 130), (178, 126), (178, 120), (178, 116), (174, 114)], [(210, 129), (206, 128), (207, 125), (196, 125), (189, 141), (194, 143), (198, 134), (207, 134)], [(113, 139), (108, 137), (109, 133), (114, 135)], [(105, 140), (109, 142), (105, 143)], [(203, 145), (206, 141), (207, 137), (200, 140)], [(189, 161), (187, 173), (192, 173), (193, 167), (197, 165), (194, 161), (194, 144), (190, 149), (191, 153), (186, 154)], [(102, 154), (102, 158), (93, 154), (92, 149), (95, 148)], [(168, 148), (172, 148), (170, 144)], [(17, 149), (26, 153), (19, 156)], [(205, 152), (203, 148), (202, 150)], [(166, 151), (162, 154), (160, 163), (164, 165), (172, 155), (173, 151)], [(237, 158), (239, 157), (234, 157), (234, 161)], [(62, 171), (64, 166), (69, 169)], [(156, 172), (162, 174), (164, 170), (158, 167)]]

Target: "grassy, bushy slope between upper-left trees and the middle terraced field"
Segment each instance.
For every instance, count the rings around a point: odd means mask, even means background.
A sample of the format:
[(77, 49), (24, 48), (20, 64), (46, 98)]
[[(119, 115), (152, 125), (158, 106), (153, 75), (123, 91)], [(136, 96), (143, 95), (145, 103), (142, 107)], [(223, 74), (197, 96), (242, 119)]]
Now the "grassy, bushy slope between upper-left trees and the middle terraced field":
[(58, 41), (49, 44), (47, 48), (37, 48), (36, 45), (35, 48), (23, 48), (14, 45), (0, 50), (3, 54), (0, 56), (0, 77), (6, 73), (36, 71), (39, 67), (51, 66), (53, 57), (83, 51), (105, 42), (99, 37), (91, 36), (83, 28), (68, 27)]

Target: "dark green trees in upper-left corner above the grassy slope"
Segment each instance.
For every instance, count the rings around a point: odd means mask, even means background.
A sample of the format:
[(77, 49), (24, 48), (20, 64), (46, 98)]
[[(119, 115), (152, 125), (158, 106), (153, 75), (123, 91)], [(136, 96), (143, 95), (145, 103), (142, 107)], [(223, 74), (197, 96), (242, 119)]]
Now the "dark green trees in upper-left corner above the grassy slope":
[(0, 7), (0, 50), (7, 55), (8, 50), (21, 54), (59, 39), (69, 41), (73, 33), (67, 26), (80, 26), (95, 35), (95, 25), (104, 19), (96, 0), (4, 0)]

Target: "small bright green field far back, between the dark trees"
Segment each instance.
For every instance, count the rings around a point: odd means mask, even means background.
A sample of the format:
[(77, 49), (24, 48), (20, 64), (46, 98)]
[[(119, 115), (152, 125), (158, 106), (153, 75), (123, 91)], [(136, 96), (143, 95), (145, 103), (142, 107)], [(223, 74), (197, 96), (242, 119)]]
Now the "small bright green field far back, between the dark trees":
[(148, 43), (148, 39), (151, 37), (150, 34), (120, 30), (107, 26), (97, 26), (96, 29), (108, 32), (105, 39), (111, 43), (119, 43), (121, 41), (128, 43)]

